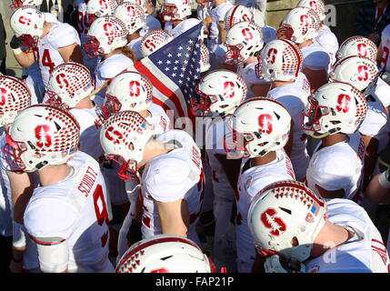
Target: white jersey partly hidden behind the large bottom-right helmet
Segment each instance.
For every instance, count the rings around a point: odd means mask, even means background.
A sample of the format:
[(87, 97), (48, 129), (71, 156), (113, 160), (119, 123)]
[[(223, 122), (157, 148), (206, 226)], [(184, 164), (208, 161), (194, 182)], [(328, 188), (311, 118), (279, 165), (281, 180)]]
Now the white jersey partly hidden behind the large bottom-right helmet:
[[(243, 159), (237, 183), (235, 202), (235, 232), (237, 246), (237, 271), (250, 273), (255, 261), (254, 240), (248, 227), (247, 216), (253, 197), (265, 186), (281, 180), (295, 180), (290, 159), (283, 149), (276, 151), (275, 161), (250, 167), (251, 159)], [(245, 169), (247, 166), (249, 168)]]

